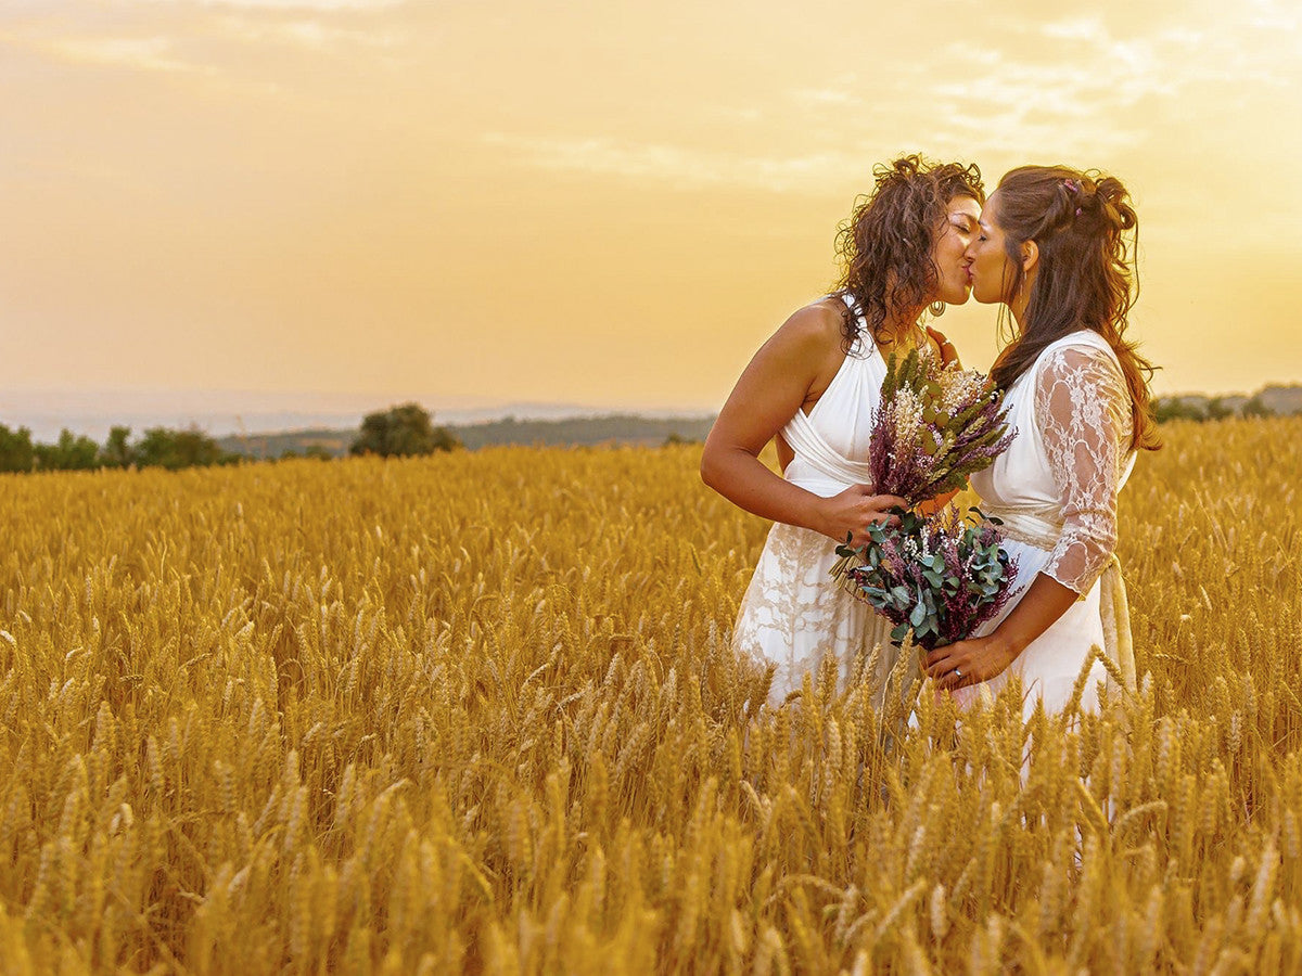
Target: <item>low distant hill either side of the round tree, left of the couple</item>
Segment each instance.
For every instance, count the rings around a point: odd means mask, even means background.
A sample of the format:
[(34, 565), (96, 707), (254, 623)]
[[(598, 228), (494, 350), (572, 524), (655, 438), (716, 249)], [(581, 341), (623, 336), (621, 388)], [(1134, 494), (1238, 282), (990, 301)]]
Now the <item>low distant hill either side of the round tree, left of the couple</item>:
[[(639, 416), (608, 414), (605, 416), (570, 416), (559, 420), (501, 420), (474, 424), (441, 424), (470, 450), (497, 445), (535, 444), (548, 446), (582, 446), (596, 444), (634, 444), (658, 446), (668, 440), (703, 441), (713, 426), (713, 416)], [(437, 418), (435, 418), (437, 423)], [(223, 437), (223, 450), (250, 458), (279, 458), (286, 453), (348, 454), (357, 437), (357, 428), (286, 431)]]

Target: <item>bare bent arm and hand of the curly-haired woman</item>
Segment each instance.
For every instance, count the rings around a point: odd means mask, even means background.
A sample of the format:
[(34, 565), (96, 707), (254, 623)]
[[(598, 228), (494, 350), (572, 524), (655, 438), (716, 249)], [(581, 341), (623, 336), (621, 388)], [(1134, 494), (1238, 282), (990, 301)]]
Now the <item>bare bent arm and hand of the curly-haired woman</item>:
[(853, 485), (831, 498), (792, 484), (759, 459), (759, 452), (841, 364), (841, 316), (823, 305), (801, 308), (750, 360), (719, 413), (700, 455), (700, 479), (738, 508), (773, 522), (845, 541), (865, 541), (871, 522), (888, 518), (902, 498)]

